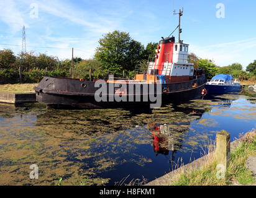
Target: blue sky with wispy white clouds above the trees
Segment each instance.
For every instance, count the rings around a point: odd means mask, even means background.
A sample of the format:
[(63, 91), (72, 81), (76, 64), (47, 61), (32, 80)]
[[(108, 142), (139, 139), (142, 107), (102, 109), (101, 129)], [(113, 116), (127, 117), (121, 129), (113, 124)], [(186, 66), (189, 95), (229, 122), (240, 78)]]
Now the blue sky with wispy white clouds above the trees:
[[(224, 18), (216, 17), (219, 3)], [(256, 59), (256, 1), (174, 0), (174, 7), (184, 9), (181, 40), (190, 52), (219, 66), (240, 62), (244, 69)], [(158, 42), (176, 28), (178, 15), (173, 0), (0, 0), (0, 49), (21, 51), (23, 25), (27, 51), (70, 59), (73, 47), (74, 56), (86, 59), (114, 30), (129, 32), (144, 46)]]

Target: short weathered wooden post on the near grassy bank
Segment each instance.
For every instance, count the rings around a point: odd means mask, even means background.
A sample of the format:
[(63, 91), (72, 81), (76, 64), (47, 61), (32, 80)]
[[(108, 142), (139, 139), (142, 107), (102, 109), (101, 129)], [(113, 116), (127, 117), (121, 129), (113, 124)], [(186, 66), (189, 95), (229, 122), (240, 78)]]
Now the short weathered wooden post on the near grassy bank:
[(230, 158), (230, 140), (231, 134), (227, 131), (222, 130), (217, 132), (216, 135), (216, 159), (217, 159), (217, 166), (222, 166), (224, 171), (226, 171), (227, 167), (229, 166), (229, 158)]

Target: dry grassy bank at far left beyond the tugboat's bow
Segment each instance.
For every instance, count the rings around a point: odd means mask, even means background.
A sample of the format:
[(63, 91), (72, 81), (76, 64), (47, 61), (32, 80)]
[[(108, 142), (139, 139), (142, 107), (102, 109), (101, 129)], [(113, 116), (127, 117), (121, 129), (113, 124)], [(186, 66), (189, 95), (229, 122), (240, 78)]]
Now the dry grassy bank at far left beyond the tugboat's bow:
[(9, 93), (34, 93), (33, 89), (37, 86), (37, 83), (34, 84), (4, 84), (0, 85), (0, 92), (9, 92)]

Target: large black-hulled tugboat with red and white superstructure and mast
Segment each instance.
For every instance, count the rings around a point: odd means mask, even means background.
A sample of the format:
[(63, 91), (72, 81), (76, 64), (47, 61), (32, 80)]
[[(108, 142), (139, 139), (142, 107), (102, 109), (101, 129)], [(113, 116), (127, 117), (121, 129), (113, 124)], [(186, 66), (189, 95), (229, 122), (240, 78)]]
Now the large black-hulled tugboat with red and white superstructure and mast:
[[(158, 108), (165, 103), (199, 99), (207, 79), (202, 70), (195, 70), (188, 58), (188, 44), (175, 37), (163, 38), (156, 49), (154, 62), (147, 72), (135, 74), (133, 80), (92, 80), (43, 77), (37, 87), (36, 100), (48, 106), (84, 106), (86, 108), (141, 106)], [(177, 28), (178, 28), (177, 27)]]

